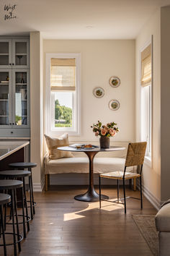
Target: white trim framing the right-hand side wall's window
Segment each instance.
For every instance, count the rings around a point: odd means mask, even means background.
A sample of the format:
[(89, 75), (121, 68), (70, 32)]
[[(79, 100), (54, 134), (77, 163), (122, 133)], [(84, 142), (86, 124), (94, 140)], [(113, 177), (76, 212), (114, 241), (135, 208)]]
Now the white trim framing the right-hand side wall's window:
[[(148, 40), (148, 42), (145, 43), (145, 45), (140, 48), (140, 77), (141, 77), (141, 70), (142, 70), (142, 64), (141, 64), (141, 52), (148, 47), (151, 44), (151, 61), (152, 61), (152, 80), (151, 80), (151, 116), (150, 116), (150, 132), (151, 132), (151, 155), (146, 155), (144, 163), (152, 168), (153, 166), (153, 35), (151, 35), (151, 39)], [(141, 109), (142, 109), (142, 101), (141, 101), (141, 90), (143, 89), (140, 84), (140, 141), (142, 141), (142, 135), (141, 135)]]

